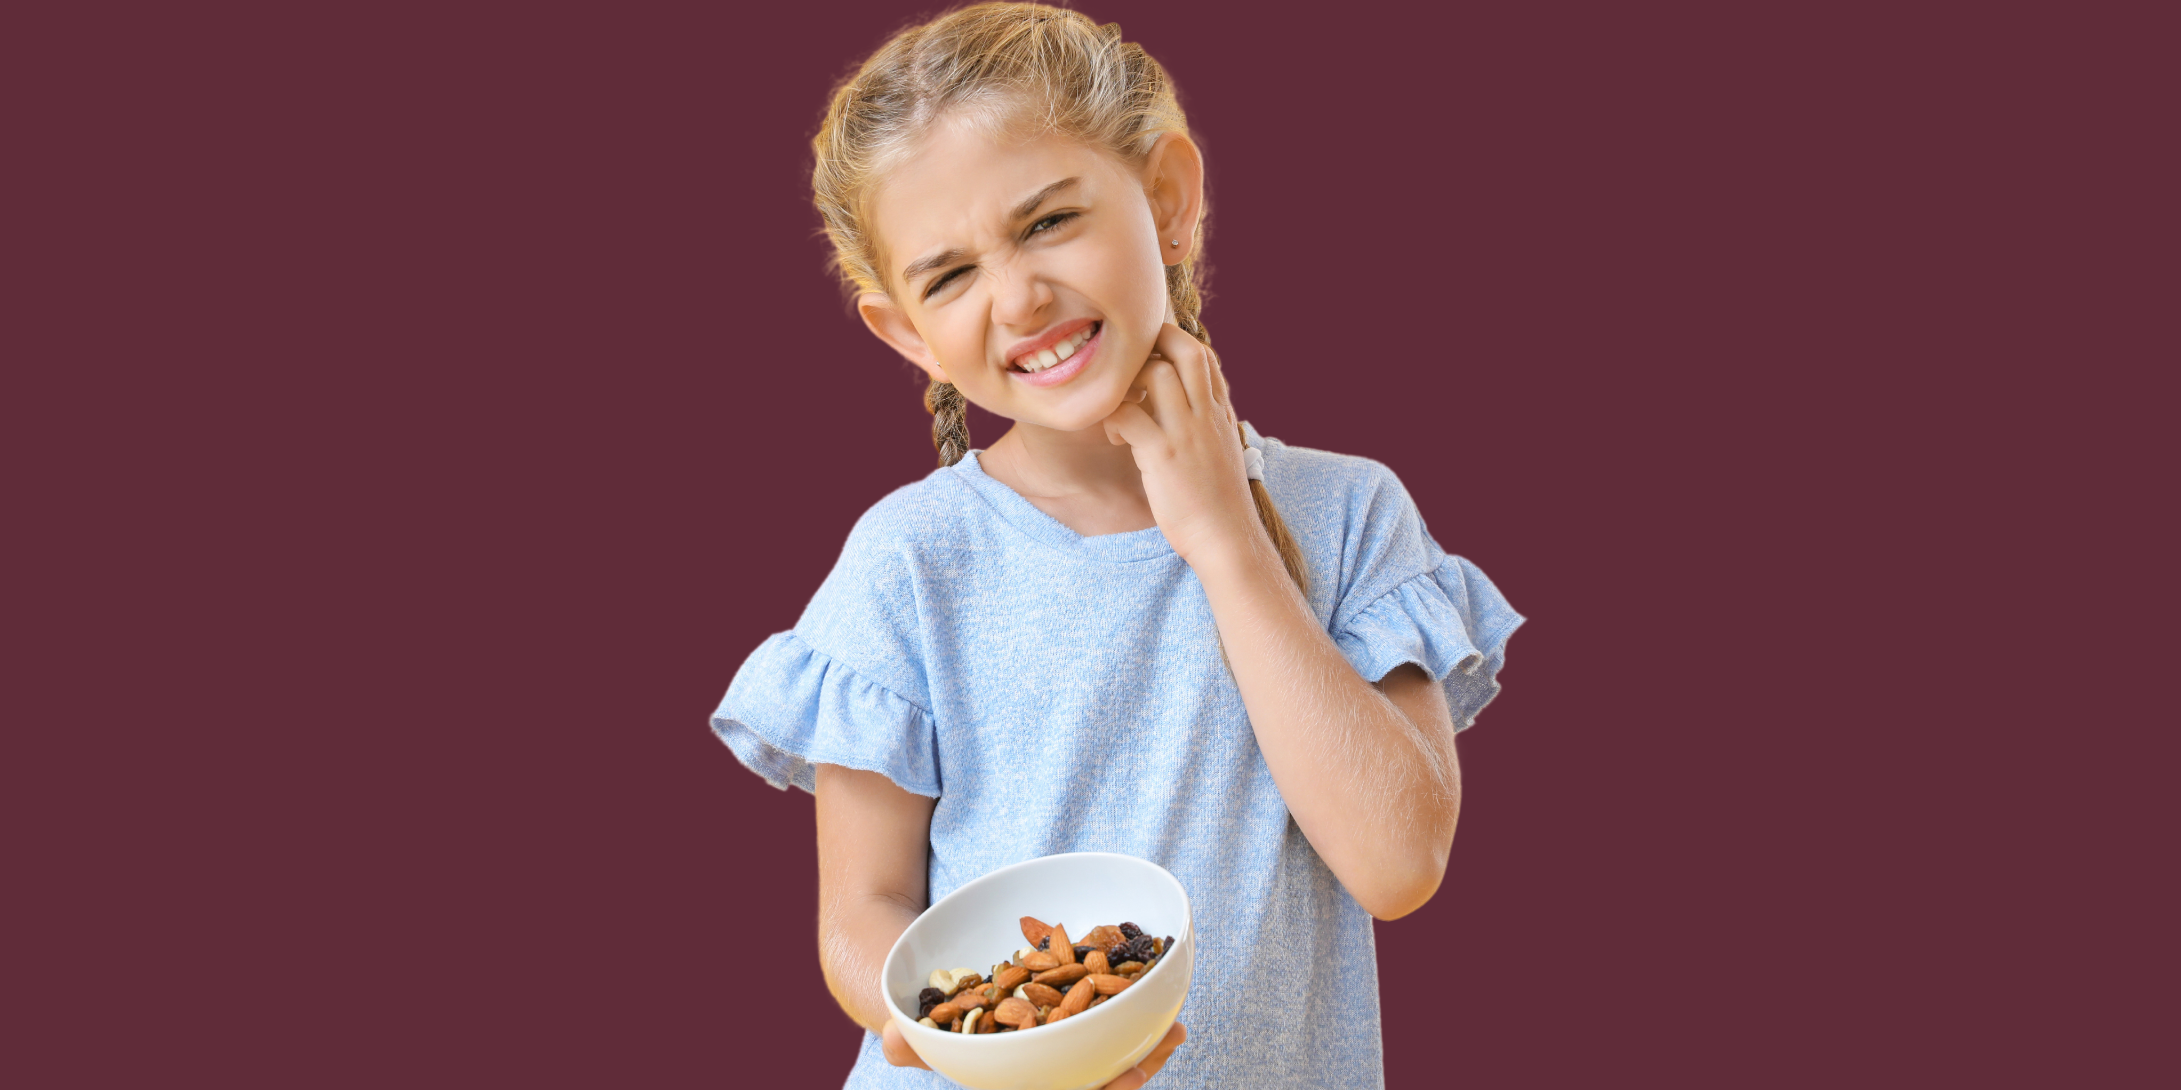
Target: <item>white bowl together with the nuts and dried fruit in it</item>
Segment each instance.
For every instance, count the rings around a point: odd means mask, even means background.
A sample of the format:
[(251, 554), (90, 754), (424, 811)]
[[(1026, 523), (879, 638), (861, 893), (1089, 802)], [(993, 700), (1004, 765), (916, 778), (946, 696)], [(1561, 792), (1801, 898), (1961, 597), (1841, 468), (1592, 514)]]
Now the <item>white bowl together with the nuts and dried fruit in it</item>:
[(1189, 894), (1132, 855), (1047, 855), (925, 909), (885, 955), (894, 1022), (973, 1090), (1090, 1090), (1136, 1066), (1189, 998)]

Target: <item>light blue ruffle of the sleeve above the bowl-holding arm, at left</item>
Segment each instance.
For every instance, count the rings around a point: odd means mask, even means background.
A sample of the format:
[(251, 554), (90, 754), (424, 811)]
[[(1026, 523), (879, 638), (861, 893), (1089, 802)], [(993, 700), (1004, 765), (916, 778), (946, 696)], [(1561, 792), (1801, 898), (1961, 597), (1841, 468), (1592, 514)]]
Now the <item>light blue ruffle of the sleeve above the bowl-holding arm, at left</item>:
[(735, 671), (711, 728), (772, 787), (818, 791), (818, 765), (885, 774), (905, 791), (938, 798), (940, 761), (931, 713), (794, 632), (761, 643)]

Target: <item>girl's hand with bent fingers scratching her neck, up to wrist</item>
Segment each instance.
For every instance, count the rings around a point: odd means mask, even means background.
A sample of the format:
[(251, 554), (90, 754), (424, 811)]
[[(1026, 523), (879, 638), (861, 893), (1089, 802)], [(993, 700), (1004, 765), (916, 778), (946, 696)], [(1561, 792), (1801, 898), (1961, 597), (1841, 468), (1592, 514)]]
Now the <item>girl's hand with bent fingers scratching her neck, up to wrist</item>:
[(1261, 534), (1256, 501), (1219, 358), (1167, 323), (1130, 390), (1143, 395), (1106, 416), (1106, 438), (1136, 456), (1167, 543), (1191, 567), (1248, 549)]

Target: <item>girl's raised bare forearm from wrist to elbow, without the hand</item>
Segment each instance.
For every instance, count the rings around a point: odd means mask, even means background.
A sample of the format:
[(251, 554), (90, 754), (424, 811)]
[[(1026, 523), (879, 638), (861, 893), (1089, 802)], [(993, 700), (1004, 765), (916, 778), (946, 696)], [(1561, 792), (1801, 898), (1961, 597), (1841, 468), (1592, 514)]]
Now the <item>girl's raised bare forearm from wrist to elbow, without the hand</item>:
[(1444, 698), (1431, 687), (1442, 711), (1409, 715), (1365, 682), (1261, 534), (1193, 567), (1296, 824), (1365, 911), (1418, 909), (1439, 885), (1461, 813)]

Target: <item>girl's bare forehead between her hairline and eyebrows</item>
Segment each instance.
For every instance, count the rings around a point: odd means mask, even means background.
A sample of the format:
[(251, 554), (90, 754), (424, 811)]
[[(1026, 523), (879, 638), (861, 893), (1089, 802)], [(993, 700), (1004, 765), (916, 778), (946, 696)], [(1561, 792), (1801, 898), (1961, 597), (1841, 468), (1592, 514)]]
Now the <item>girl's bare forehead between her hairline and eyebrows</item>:
[(1062, 135), (995, 137), (975, 124), (940, 122), (879, 185), (872, 235), (894, 277), (927, 251), (975, 249), (1010, 233), (1014, 205), (1060, 179), (1080, 177), (1082, 192), (1062, 198), (1082, 201), (1121, 174), (1121, 164)]

